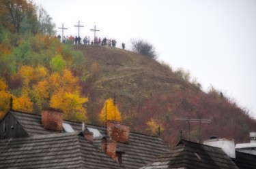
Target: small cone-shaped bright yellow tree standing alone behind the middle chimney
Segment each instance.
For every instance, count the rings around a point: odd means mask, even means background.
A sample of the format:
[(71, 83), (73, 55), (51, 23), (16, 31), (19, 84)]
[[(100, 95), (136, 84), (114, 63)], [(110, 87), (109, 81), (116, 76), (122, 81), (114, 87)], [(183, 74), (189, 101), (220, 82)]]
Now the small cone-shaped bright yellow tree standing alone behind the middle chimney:
[(104, 123), (106, 120), (122, 120), (121, 113), (119, 112), (117, 105), (114, 105), (112, 98), (109, 98), (105, 101), (104, 107), (100, 111), (100, 122)]

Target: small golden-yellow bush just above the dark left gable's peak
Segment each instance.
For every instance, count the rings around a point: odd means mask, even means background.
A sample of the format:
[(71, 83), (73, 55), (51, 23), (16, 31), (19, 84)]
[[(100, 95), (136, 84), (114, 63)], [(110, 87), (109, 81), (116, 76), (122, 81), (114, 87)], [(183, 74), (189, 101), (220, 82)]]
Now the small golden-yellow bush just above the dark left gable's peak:
[(13, 96), (13, 109), (16, 111), (24, 111), (32, 113), (33, 111), (33, 102), (31, 102), (28, 96), (20, 96), (16, 98)]

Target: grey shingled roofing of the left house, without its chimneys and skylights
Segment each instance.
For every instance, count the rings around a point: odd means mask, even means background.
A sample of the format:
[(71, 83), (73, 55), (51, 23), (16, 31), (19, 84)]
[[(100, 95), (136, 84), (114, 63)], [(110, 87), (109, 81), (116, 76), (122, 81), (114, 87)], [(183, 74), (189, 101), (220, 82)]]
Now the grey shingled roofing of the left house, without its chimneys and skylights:
[[(17, 161), (19, 164), (14, 163), (9, 165), (20, 165), (20, 167), (17, 168), (23, 168), (23, 165), (26, 166), (34, 164), (35, 168), (37, 168), (36, 165), (40, 166), (40, 164), (47, 164), (49, 165), (48, 168), (51, 168), (50, 164), (53, 163), (53, 165), (63, 164), (65, 167), (68, 165), (74, 165), (78, 166), (77, 168), (80, 168), (80, 166), (81, 168), (86, 168), (85, 166), (87, 164), (94, 165), (95, 163), (95, 167), (89, 168), (107, 168), (104, 164), (108, 164), (109, 160), (115, 162), (115, 160), (109, 157), (108, 159), (105, 159), (106, 155), (101, 151), (101, 149), (99, 149), (101, 144), (99, 139), (95, 139), (93, 143), (89, 143), (85, 138), (83, 138), (83, 136), (79, 136), (78, 132), (81, 132), (82, 130), (81, 123), (63, 120), (63, 123), (70, 124), (75, 132), (70, 134), (63, 132), (55, 133), (43, 128), (40, 115), (22, 113), (18, 111), (9, 111), (8, 115), (14, 117), (14, 119), (18, 121), (20, 128), (23, 128), (27, 138), (10, 138), (1, 140), (0, 151), (3, 149), (3, 152), (5, 153), (0, 153), (0, 168), (14, 162), (15, 159), (19, 159), (19, 157), (23, 157)], [(8, 118), (8, 115), (6, 115), (5, 118)], [(4, 119), (2, 121), (4, 121)], [(87, 128), (95, 128), (102, 134), (102, 136), (105, 135), (105, 127), (90, 124), (86, 124), (85, 126)], [(55, 144), (56, 146), (54, 146)], [(65, 155), (58, 156), (57, 154), (57, 156), (54, 156), (54, 154), (59, 151), (59, 146), (61, 146), (61, 152), (63, 151)], [(74, 151), (74, 153), (65, 152), (64, 147), (66, 147), (68, 152), (69, 149), (72, 149), (71, 152)], [(91, 149), (89, 153), (87, 152), (87, 147), (89, 147), (88, 149)], [(97, 151), (92, 150), (93, 148), (97, 148)], [(30, 149), (33, 150), (31, 153), (23, 155), (22, 151)], [(14, 153), (14, 151), (17, 152)], [(44, 151), (46, 154), (44, 154)], [(168, 149), (165, 143), (156, 136), (130, 132), (129, 143), (117, 143), (117, 151), (122, 152), (122, 164), (119, 166), (119, 164), (115, 162), (117, 165), (113, 165), (113, 168), (141, 168), (145, 164), (152, 162), (162, 153), (168, 151)], [(33, 157), (34, 153), (38, 153), (38, 157)], [(12, 157), (12, 155), (14, 156)], [(46, 157), (44, 157), (45, 155)], [(31, 157), (33, 158), (30, 159)], [(98, 166), (96, 164), (98, 164)], [(100, 165), (103, 166), (100, 167)], [(44, 168), (44, 166), (42, 166), (42, 168)]]

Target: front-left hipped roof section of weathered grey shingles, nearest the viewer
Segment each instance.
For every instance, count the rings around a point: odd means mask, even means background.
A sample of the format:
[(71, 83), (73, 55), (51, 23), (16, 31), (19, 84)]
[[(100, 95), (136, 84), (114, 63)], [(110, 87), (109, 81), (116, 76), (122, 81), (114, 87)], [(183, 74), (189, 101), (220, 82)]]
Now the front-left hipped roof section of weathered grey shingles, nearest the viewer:
[(0, 140), (0, 168), (124, 168), (78, 133)]

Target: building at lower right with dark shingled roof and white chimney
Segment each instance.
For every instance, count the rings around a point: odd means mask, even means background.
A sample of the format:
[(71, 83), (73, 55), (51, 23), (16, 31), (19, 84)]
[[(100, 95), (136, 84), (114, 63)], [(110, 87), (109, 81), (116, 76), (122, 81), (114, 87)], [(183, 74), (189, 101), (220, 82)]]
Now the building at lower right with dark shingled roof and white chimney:
[(233, 140), (211, 138), (203, 144), (180, 140), (173, 149), (141, 169), (255, 169), (256, 155), (236, 151)]

